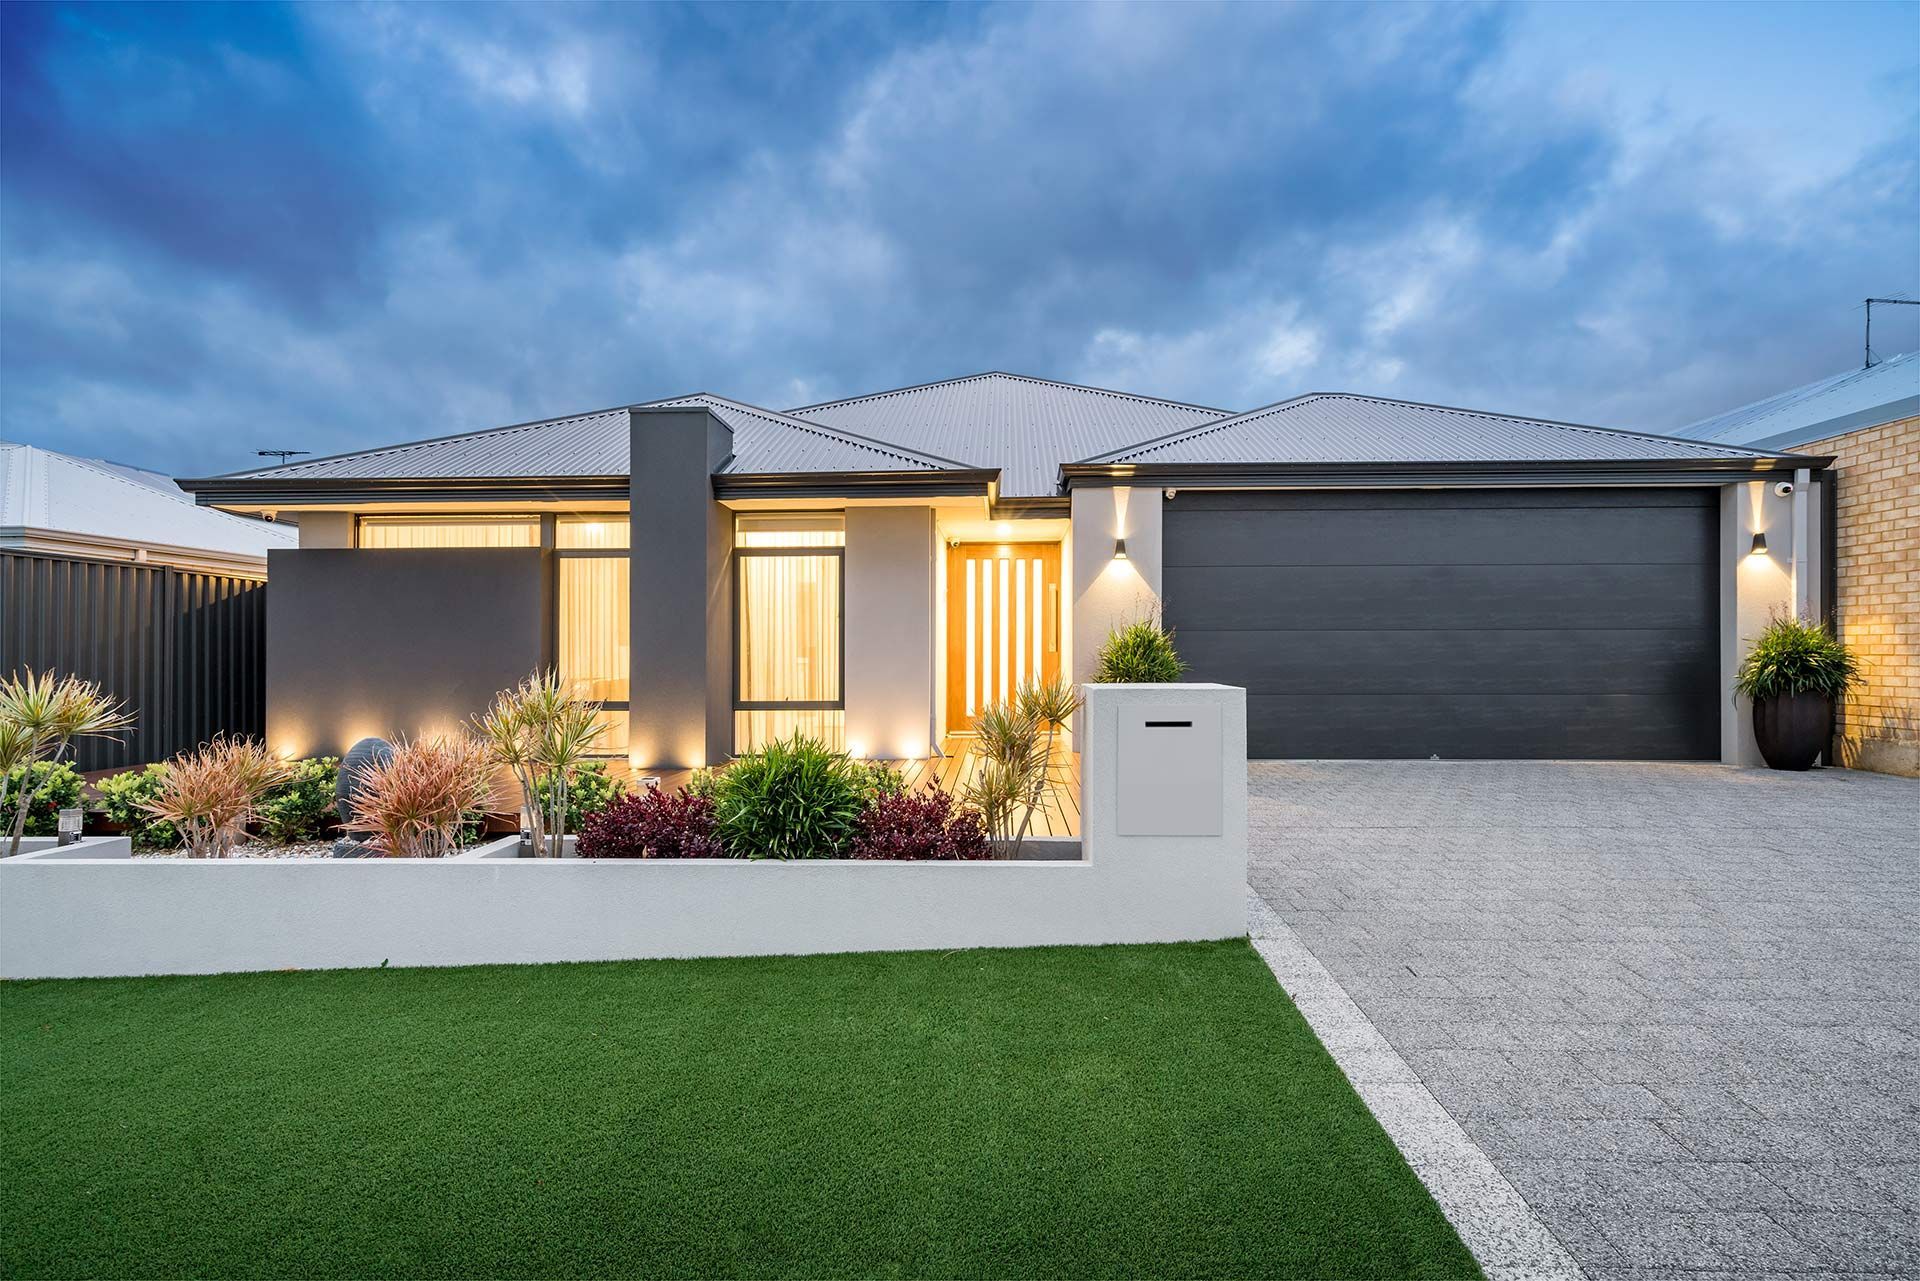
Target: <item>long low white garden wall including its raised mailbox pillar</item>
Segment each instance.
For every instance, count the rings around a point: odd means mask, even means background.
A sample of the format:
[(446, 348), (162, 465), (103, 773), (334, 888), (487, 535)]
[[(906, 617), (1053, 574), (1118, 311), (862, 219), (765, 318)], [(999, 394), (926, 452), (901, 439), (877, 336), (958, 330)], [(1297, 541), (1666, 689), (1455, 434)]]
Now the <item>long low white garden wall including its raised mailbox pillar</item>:
[[(1212, 837), (1114, 832), (1116, 709), (1221, 707)], [(1173, 943), (1246, 931), (1246, 705), (1089, 688), (1085, 858), (749, 862), (461, 857), (0, 860), (0, 976)], [(495, 851), (474, 851), (474, 855)]]

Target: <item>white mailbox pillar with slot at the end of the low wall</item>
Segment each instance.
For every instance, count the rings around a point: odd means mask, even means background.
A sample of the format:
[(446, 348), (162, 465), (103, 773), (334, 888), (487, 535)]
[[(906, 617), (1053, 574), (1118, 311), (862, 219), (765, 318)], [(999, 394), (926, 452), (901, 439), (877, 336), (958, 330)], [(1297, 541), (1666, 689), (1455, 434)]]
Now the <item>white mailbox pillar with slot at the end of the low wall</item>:
[(1083, 689), (1087, 860), (1154, 882), (1167, 939), (1246, 933), (1246, 689)]

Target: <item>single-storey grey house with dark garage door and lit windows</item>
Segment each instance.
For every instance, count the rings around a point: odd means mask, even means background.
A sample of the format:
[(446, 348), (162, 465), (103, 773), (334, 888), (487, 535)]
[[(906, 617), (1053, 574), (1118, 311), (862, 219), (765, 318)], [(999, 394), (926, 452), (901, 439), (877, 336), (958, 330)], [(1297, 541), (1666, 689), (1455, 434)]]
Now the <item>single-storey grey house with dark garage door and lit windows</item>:
[[(916, 759), (1160, 609), (1254, 757), (1759, 761), (1738, 641), (1818, 592), (1828, 459), (1311, 394), (985, 373), (682, 396), (184, 480), (298, 515), (267, 736), (434, 732), (536, 665), (637, 768), (804, 730)], [(1789, 482), (1791, 494), (1776, 492)]]

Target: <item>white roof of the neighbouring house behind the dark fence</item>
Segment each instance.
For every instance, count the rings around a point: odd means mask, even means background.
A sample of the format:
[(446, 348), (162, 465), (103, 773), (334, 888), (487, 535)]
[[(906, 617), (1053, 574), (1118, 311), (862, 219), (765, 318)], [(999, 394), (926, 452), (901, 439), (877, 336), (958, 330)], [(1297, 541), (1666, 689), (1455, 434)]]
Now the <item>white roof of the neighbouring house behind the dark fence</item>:
[(0, 442), (0, 547), (263, 574), (300, 532), (225, 511), (159, 472)]

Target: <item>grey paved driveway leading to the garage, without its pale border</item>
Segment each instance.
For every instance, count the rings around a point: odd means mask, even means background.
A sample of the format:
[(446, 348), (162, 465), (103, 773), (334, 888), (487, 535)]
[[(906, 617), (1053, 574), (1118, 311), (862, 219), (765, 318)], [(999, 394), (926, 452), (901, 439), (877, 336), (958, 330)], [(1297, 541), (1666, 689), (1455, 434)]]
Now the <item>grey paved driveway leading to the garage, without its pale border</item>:
[(1920, 1277), (1920, 782), (1250, 774), (1252, 887), (1592, 1277)]

